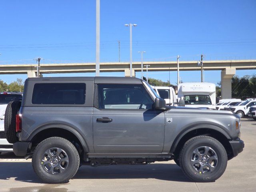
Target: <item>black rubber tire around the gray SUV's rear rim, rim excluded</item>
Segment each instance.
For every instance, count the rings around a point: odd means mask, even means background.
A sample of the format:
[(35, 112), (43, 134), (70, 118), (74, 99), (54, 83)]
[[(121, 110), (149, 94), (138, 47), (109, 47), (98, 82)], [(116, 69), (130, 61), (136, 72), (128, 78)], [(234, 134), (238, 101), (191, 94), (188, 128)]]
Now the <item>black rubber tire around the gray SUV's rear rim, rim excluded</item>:
[[(42, 166), (42, 156), (50, 148), (61, 148), (68, 155), (68, 167), (62, 173), (50, 174)], [(75, 146), (68, 140), (60, 137), (51, 137), (43, 140), (36, 146), (32, 156), (32, 166), (38, 177), (46, 183), (67, 183), (77, 172), (80, 157)]]

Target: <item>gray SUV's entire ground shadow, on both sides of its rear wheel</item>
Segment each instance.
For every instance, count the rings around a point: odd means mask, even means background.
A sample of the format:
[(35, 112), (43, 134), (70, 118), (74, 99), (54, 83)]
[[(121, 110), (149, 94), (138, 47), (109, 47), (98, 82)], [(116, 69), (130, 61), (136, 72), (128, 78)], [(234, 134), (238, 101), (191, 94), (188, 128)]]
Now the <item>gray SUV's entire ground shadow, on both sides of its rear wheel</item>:
[[(36, 176), (31, 162), (0, 162), (0, 180), (44, 183)], [(191, 182), (179, 166), (170, 163), (148, 165), (82, 166), (73, 179), (148, 179)]]

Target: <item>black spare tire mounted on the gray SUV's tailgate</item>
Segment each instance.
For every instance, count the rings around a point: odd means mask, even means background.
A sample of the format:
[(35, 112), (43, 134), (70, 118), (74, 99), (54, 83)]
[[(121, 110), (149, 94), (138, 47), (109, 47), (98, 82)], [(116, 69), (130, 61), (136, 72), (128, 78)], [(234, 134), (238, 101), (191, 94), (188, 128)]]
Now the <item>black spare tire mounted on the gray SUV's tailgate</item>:
[(19, 112), (21, 101), (11, 101), (8, 103), (4, 114), (4, 132), (9, 143), (18, 141), (16, 135), (16, 114)]

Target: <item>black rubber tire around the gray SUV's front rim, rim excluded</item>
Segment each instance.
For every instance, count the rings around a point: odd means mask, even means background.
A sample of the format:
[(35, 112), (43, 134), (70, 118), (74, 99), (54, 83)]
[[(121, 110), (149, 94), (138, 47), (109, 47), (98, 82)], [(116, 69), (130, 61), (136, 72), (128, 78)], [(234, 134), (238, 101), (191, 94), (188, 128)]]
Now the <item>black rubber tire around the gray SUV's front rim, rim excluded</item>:
[[(190, 163), (191, 154), (200, 146), (208, 146), (216, 152), (218, 162), (213, 171), (202, 173), (192, 167)], [(228, 157), (224, 146), (218, 140), (210, 136), (196, 136), (184, 144), (180, 152), (179, 162), (182, 172), (190, 180), (194, 182), (213, 182), (220, 178), (226, 170)]]

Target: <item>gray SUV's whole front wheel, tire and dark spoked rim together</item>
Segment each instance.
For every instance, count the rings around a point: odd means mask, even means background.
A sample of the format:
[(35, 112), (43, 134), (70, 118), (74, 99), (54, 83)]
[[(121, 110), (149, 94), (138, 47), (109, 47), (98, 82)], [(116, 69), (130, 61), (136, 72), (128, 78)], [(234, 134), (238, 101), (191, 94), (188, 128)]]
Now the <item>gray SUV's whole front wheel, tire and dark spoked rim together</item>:
[(224, 146), (210, 136), (188, 140), (179, 157), (184, 174), (195, 182), (213, 182), (226, 170), (228, 157)]

